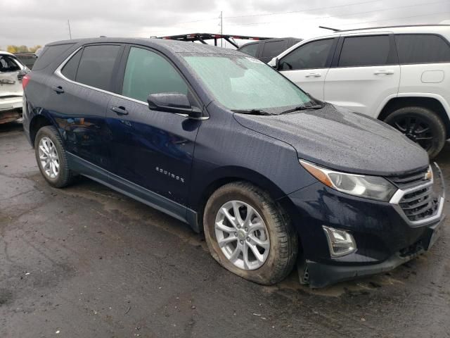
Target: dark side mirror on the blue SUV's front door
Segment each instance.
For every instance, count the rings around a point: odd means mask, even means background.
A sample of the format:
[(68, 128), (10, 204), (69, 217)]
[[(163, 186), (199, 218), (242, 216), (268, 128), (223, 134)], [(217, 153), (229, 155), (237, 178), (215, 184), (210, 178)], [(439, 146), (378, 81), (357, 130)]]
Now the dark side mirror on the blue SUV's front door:
[(166, 111), (186, 116), (186, 118), (201, 119), (203, 112), (191, 106), (188, 96), (180, 93), (150, 94), (147, 98), (148, 108), (151, 111)]

